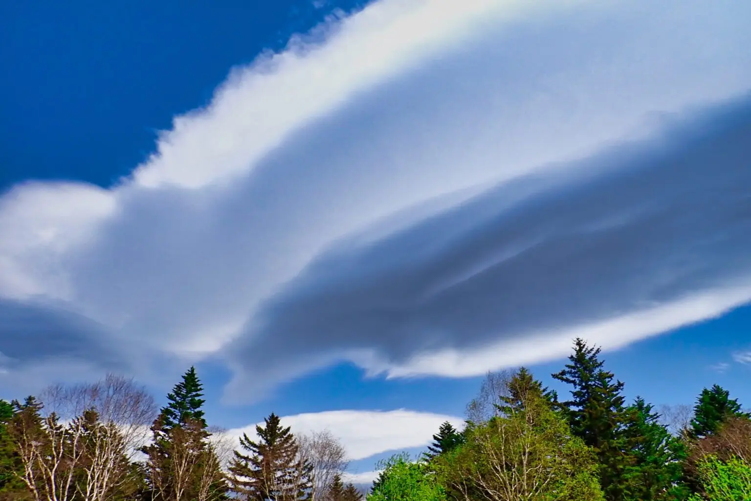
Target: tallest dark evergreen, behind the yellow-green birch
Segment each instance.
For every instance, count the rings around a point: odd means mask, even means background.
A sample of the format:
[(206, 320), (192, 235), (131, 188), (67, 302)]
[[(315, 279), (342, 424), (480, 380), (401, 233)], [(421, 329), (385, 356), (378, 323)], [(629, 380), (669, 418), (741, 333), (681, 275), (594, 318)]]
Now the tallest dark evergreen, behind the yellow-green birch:
[(574, 341), (574, 353), (566, 369), (554, 379), (572, 385), (572, 400), (559, 403), (568, 418), (572, 433), (592, 447), (600, 463), (600, 481), (605, 499), (620, 501), (626, 489), (625, 472), (633, 458), (625, 433), (629, 415), (621, 394), (623, 382), (603, 369), (600, 348), (587, 346), (581, 338)]

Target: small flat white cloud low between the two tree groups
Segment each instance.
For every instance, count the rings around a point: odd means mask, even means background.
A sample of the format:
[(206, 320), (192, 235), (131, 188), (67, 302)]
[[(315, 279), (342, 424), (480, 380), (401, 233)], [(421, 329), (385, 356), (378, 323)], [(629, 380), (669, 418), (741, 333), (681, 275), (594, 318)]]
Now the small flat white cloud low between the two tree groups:
[[(311, 412), (285, 416), (282, 426), (291, 427), (292, 433), (311, 433), (330, 430), (342, 442), (350, 460), (360, 460), (385, 451), (422, 447), (430, 444), (433, 433), (449, 421), (463, 427), (463, 418), (451, 415), (416, 412), (405, 409), (394, 411), (339, 410)], [(228, 430), (230, 436), (255, 435), (255, 424)], [(353, 481), (354, 482), (354, 481)]]

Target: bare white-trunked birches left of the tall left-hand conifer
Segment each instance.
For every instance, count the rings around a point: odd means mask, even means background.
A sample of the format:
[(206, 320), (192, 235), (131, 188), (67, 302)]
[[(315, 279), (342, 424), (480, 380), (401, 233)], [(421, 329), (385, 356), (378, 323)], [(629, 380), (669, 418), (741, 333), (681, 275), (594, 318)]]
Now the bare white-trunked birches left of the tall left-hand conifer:
[(93, 384), (50, 386), (42, 400), (47, 416), (33, 432), (21, 419), (16, 440), (35, 499), (110, 499), (146, 440), (153, 398), (132, 379), (110, 374)]

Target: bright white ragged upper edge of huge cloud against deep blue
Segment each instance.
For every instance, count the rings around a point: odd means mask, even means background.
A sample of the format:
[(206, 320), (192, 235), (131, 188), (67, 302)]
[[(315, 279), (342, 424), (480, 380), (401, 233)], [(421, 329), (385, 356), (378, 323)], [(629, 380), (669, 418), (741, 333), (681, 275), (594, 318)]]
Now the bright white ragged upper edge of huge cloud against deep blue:
[(174, 119), (138, 184), (200, 188), (245, 174), (291, 131), (331, 113), (357, 92), (471, 38), (478, 21), (578, 2), (383, 0), (288, 50), (239, 69), (206, 110)]

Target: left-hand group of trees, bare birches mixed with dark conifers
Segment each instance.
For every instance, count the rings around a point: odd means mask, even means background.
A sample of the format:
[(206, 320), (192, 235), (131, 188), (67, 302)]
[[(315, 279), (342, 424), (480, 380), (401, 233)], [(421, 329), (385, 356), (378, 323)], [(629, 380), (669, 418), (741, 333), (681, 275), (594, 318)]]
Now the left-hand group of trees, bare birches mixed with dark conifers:
[(329, 432), (294, 436), (271, 414), (239, 443), (204, 418), (195, 368), (156, 410), (132, 380), (0, 400), (0, 501), (360, 501)]

